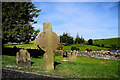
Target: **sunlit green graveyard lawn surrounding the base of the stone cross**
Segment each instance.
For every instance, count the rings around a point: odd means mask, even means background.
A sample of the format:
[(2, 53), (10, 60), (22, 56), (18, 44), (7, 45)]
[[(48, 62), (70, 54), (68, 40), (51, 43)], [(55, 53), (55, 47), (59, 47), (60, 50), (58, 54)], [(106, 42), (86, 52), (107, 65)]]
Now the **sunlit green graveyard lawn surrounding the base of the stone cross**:
[(2, 55), (2, 67), (64, 78), (120, 78), (118, 75), (120, 63), (117, 60), (83, 56), (78, 56), (77, 61), (61, 61), (63, 59), (61, 56), (55, 56), (54, 61), (59, 64), (54, 71), (46, 72), (43, 69), (43, 57), (31, 57), (31, 61), (35, 63), (30, 67), (15, 67), (15, 56)]

